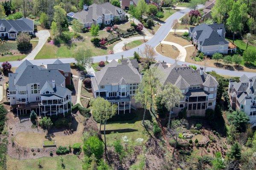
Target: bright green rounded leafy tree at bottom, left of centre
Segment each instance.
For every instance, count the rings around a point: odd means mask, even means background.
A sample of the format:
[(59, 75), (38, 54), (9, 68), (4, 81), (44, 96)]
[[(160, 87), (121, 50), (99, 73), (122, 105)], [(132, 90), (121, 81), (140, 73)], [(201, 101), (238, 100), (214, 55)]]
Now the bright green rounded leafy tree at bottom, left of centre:
[(91, 136), (84, 141), (83, 150), (85, 155), (90, 157), (94, 154), (100, 159), (104, 153), (103, 142), (97, 136)]

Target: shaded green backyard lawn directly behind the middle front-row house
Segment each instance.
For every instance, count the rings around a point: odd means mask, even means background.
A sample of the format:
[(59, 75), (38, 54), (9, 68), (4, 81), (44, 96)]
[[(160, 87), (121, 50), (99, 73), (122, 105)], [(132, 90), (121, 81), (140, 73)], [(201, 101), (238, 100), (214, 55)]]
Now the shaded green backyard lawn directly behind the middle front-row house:
[[(106, 135), (106, 140), (108, 145), (112, 144), (113, 138), (116, 136), (122, 137), (127, 136), (128, 139), (131, 141), (135, 141), (137, 138), (143, 138), (144, 141), (148, 140), (147, 132), (145, 131), (145, 128), (141, 125), (141, 121), (143, 119), (143, 109), (137, 109), (131, 110), (131, 113), (125, 113), (126, 116), (129, 116), (129, 114), (136, 114), (135, 117), (132, 120), (128, 121), (111, 121), (107, 122), (106, 124), (106, 130), (123, 130), (123, 129), (132, 129), (136, 130), (134, 132), (125, 132), (125, 133), (111, 133)], [(124, 114), (123, 112), (119, 112), (119, 115)], [(146, 114), (145, 120), (150, 119), (149, 113)], [(103, 127), (102, 127), (103, 128)], [(102, 135), (102, 138), (104, 136)], [(122, 141), (123, 142), (123, 141)]]

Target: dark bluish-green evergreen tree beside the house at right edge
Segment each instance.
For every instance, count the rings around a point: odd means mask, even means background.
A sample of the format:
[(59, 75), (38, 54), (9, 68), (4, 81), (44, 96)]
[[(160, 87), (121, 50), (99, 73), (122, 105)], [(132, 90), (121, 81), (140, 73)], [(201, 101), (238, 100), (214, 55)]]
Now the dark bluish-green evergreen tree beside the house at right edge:
[(250, 119), (243, 111), (236, 110), (227, 115), (227, 120), (235, 125), (239, 132), (244, 132)]

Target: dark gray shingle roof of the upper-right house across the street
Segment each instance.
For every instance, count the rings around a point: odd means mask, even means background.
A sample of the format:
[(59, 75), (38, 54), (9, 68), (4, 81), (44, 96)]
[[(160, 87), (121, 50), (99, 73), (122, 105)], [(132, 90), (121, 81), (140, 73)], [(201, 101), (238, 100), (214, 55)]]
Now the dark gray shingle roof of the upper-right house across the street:
[[(217, 29), (222, 29), (222, 35), (218, 35)], [(192, 34), (196, 33), (196, 39), (200, 42), (201, 46), (224, 45), (229, 42), (225, 40), (225, 27), (224, 24), (211, 24), (207, 25), (202, 23), (195, 27), (189, 28)]]

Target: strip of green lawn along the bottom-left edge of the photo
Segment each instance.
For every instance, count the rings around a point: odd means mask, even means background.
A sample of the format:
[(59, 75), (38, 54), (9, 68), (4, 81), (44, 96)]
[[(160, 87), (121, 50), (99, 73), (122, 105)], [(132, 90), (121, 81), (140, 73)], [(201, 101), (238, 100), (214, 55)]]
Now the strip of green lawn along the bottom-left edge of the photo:
[[(29, 153), (32, 155), (32, 153)], [(37, 159), (18, 160), (7, 156), (8, 170), (38, 170), (38, 160), (41, 160), (42, 168), (39, 170), (63, 170), (61, 167), (61, 156), (43, 157)], [(66, 170), (82, 170), (82, 159), (75, 155), (62, 156)]]

